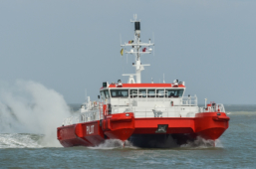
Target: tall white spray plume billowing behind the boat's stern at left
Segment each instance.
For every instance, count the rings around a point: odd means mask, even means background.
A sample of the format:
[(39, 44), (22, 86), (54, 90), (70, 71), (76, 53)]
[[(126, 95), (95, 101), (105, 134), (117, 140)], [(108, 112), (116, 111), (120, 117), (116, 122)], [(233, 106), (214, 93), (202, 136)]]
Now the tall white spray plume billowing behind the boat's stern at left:
[(57, 127), (71, 115), (64, 97), (35, 82), (0, 82), (0, 133), (43, 134), (43, 146), (60, 146)]

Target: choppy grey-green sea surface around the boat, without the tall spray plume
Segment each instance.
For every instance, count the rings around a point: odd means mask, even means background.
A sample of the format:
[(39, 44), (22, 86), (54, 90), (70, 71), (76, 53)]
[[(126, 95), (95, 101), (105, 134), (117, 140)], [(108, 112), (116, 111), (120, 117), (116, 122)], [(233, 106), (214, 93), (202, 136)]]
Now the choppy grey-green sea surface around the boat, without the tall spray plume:
[(0, 168), (255, 168), (256, 106), (225, 107), (229, 128), (215, 147), (198, 139), (171, 149), (137, 148), (128, 143), (123, 147), (120, 140), (64, 148), (46, 146), (43, 134), (1, 133)]

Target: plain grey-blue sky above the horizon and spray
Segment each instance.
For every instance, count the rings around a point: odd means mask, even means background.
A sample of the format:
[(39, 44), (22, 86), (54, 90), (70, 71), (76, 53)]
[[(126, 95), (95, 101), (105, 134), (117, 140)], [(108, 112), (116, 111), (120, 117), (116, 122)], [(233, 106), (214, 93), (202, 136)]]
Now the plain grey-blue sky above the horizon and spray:
[(127, 82), (132, 56), (120, 55), (120, 35), (154, 33), (155, 53), (142, 83), (184, 81), (187, 94), (219, 103), (256, 102), (256, 1), (0, 0), (0, 82), (34, 81), (81, 103), (102, 83)]

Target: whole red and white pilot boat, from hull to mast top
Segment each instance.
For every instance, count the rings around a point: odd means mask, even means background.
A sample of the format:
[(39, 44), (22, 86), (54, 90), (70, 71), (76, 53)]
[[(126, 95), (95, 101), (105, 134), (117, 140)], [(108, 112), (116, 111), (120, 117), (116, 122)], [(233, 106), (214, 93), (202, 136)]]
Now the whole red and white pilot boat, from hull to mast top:
[(151, 54), (154, 43), (140, 41), (140, 20), (133, 16), (134, 39), (121, 45), (124, 53), (135, 56), (135, 74), (126, 74), (128, 83), (104, 82), (99, 99), (81, 106), (79, 115), (68, 117), (57, 128), (64, 147), (98, 146), (108, 139), (128, 140), (133, 146), (165, 148), (180, 146), (198, 137), (218, 139), (228, 128), (229, 117), (223, 104), (197, 105), (196, 95), (184, 96), (185, 83), (141, 83), (140, 58)]

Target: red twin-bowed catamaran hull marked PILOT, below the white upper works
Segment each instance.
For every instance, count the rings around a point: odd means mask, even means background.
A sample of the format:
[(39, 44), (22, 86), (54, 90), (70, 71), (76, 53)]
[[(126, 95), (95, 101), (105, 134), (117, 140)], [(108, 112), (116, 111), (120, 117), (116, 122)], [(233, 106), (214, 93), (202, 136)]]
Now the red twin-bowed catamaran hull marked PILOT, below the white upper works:
[(216, 140), (228, 128), (224, 112), (197, 113), (195, 117), (134, 118), (132, 112), (111, 114), (103, 120), (57, 128), (64, 147), (97, 146), (106, 139), (130, 141), (137, 147), (179, 146), (197, 136)]

